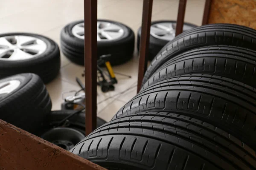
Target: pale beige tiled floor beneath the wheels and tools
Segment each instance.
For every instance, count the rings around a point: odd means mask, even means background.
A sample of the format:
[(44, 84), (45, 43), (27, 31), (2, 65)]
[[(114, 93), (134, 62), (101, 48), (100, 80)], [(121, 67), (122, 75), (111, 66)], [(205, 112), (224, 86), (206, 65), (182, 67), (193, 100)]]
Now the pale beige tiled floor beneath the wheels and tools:
[[(205, 0), (188, 0), (185, 22), (201, 25)], [(152, 21), (176, 20), (179, 0), (154, 0)], [(30, 32), (47, 36), (59, 44), (60, 31), (67, 23), (83, 18), (83, 0), (0, 0), (0, 33)], [(98, 0), (98, 18), (115, 20), (131, 27), (135, 35), (141, 25), (143, 0)], [(136, 43), (135, 43), (136, 44)], [(135, 48), (136, 49), (136, 48)], [(116, 75), (115, 91), (102, 93), (98, 87), (98, 116), (109, 121), (136, 94), (138, 58), (113, 68), (129, 74), (131, 79)], [(61, 53), (58, 77), (47, 84), (52, 110), (61, 108), (61, 93), (79, 90), (75, 77), (83, 77), (83, 67), (71, 63)], [(129, 91), (125, 89), (131, 88)], [(119, 94), (120, 92), (123, 92)], [(119, 95), (117, 95), (119, 94)], [(117, 96), (115, 96), (117, 95)], [(114, 96), (111, 99), (109, 97)], [(105, 99), (108, 99), (104, 101)], [(102, 102), (103, 101), (103, 102)]]

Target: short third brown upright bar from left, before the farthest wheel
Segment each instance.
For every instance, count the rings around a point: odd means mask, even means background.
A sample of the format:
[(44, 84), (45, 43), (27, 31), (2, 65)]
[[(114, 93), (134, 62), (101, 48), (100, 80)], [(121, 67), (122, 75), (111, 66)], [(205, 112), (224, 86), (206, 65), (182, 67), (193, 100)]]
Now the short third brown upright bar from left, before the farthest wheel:
[(186, 0), (180, 0), (175, 36), (181, 34), (183, 31), (185, 11), (186, 11)]

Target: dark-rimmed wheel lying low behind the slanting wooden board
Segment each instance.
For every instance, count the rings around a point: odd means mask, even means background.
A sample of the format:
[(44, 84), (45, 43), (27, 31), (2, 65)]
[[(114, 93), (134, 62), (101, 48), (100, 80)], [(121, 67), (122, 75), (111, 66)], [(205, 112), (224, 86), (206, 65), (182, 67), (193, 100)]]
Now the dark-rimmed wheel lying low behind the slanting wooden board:
[[(70, 116), (75, 111), (52, 111), (41, 124), (40, 130), (35, 135), (52, 142), (53, 144), (70, 150), (74, 145), (84, 139), (85, 135), (85, 113), (78, 113), (64, 125), (58, 126), (61, 120)], [(105, 120), (97, 117), (97, 127), (105, 124)]]

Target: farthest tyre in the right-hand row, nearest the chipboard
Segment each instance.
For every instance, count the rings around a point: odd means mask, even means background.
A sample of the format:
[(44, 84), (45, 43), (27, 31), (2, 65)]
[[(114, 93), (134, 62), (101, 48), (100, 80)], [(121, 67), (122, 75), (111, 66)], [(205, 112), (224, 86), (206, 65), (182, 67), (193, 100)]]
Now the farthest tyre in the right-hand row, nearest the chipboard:
[(233, 45), (255, 50), (256, 30), (234, 24), (209, 24), (192, 28), (167, 43), (148, 66), (143, 83), (172, 57), (193, 48), (209, 45)]

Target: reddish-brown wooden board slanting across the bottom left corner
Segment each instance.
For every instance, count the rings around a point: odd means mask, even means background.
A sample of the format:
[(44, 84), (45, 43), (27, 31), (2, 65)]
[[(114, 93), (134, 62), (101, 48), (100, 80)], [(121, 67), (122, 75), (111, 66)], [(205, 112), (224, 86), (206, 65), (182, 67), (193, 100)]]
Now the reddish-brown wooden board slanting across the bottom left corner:
[(0, 170), (105, 170), (0, 120)]

